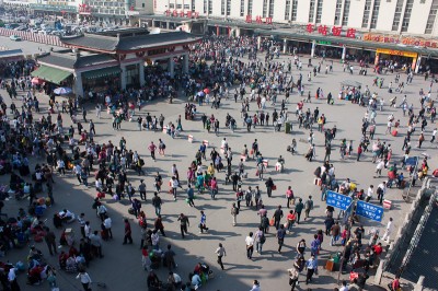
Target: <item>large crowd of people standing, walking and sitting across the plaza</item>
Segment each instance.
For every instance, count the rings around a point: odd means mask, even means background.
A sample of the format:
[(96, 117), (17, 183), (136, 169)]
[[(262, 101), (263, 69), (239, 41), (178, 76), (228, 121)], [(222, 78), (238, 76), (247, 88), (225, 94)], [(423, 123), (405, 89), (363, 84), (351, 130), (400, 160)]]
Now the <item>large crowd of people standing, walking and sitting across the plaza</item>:
[[(191, 48), (191, 66), (189, 73), (176, 74), (175, 78), (160, 69), (150, 70), (146, 74), (147, 84), (142, 89), (128, 90), (123, 92), (93, 92), (91, 89), (87, 95), (95, 102), (95, 118), (101, 118), (102, 110), (113, 116), (113, 129), (120, 130), (123, 121), (132, 121), (137, 116), (139, 130), (165, 130), (172, 138), (177, 137), (183, 131), (184, 120), (197, 120), (207, 132), (212, 131), (217, 135), (221, 132), (220, 125), (224, 125), (231, 131), (237, 130), (240, 126), (247, 131), (262, 130), (272, 128), (273, 131), (280, 131), (281, 127), (287, 127), (287, 123), (292, 121), (299, 125), (300, 130), (306, 130), (308, 139), (300, 142), (307, 144), (304, 158), (312, 162), (316, 156), (315, 131), (324, 136), (324, 160), (314, 172), (315, 184), (321, 188), (321, 200), (325, 200), (327, 190), (335, 190), (354, 199), (366, 200), (367, 202), (382, 205), (388, 188), (395, 185), (399, 188), (408, 186), (411, 183), (415, 185), (416, 179), (423, 179), (429, 174), (427, 158), (418, 167), (411, 166), (408, 171), (403, 167), (410, 161), (412, 150), (411, 140), (418, 136), (417, 148), (422, 147), (425, 136), (429, 135), (430, 142), (435, 142), (437, 130), (429, 130), (427, 120), (434, 123), (436, 116), (436, 107), (431, 97), (431, 92), (425, 94), (419, 92), (420, 104), (414, 107), (408, 104), (406, 97), (401, 104), (390, 104), (407, 113), (408, 127), (402, 149), (400, 161), (394, 161), (393, 149), (389, 142), (374, 138), (378, 128), (376, 116), (383, 114), (383, 103), (374, 94), (371, 94), (368, 86), (362, 88), (343, 88), (343, 97), (353, 104), (364, 106), (365, 116), (361, 125), (361, 136), (359, 141), (354, 140), (336, 140), (336, 126), (326, 128), (326, 113), (316, 107), (313, 112), (307, 106), (312, 100), (327, 98), (327, 105), (333, 105), (332, 94), (328, 92), (324, 96), (323, 88), (315, 90), (314, 95), (309, 91), (308, 96), (302, 98), (304, 92), (303, 75), (301, 72), (302, 61), (296, 56), (288, 60), (279, 60), (279, 50), (275, 43), (263, 42), (257, 47), (256, 38), (241, 37), (205, 37), (199, 44), (195, 44)], [(324, 65), (324, 60), (312, 66), (312, 72), (309, 72), (308, 82), (312, 77), (318, 78), (321, 67), (326, 66), (325, 73), (332, 73), (332, 66)], [(195, 207), (196, 195), (208, 191), (211, 200), (217, 199), (219, 193), (219, 182), (226, 183), (227, 191), (235, 193), (235, 201), (230, 206), (232, 217), (232, 225), (238, 225), (238, 217), (240, 214), (242, 201), (245, 207), (258, 214), (256, 219), (257, 228), (255, 231), (249, 232), (245, 237), (246, 257), (253, 259), (253, 251), (258, 254), (263, 253), (263, 245), (270, 237), (269, 228), (275, 228), (274, 235), (278, 242), (278, 253), (285, 238), (293, 233), (296, 224), (306, 224), (313, 209), (313, 198), (309, 196), (307, 199), (296, 199), (293, 194), (293, 185), (290, 185), (286, 194), (287, 213), (284, 213), (281, 206), (276, 207), (274, 213), (268, 214), (267, 201), (262, 195), (262, 190), (266, 189), (266, 198), (272, 196), (273, 190), (277, 189), (275, 176), (266, 176), (267, 160), (263, 155), (262, 142), (254, 139), (249, 147), (246, 144), (229, 144), (227, 138), (223, 138), (220, 149), (212, 148), (208, 152), (208, 143), (201, 142), (199, 149), (194, 153), (194, 160), (187, 164), (186, 177), (182, 177), (177, 165), (173, 164), (171, 168), (170, 181), (164, 181), (159, 172), (150, 173), (145, 167), (145, 159), (134, 149), (129, 139), (122, 137), (118, 141), (108, 139), (107, 142), (96, 142), (95, 137), (100, 135), (99, 130), (88, 114), (90, 108), (82, 106), (79, 97), (71, 98), (68, 102), (55, 102), (55, 95), (50, 90), (46, 93), (50, 95), (49, 109), (39, 113), (39, 102), (34, 85), (28, 82), (28, 73), (31, 63), (18, 62), (3, 69), (1, 84), (8, 90), (9, 97), (12, 100), (9, 106), (5, 101), (0, 100), (2, 108), (2, 119), (0, 124), (0, 171), (2, 174), (11, 175), (10, 189), (15, 198), (30, 198), (27, 210), (22, 210), (14, 220), (1, 220), (1, 244), (0, 251), (7, 253), (10, 248), (25, 245), (31, 241), (37, 242), (45, 240), (50, 255), (57, 254), (56, 236), (51, 226), (41, 218), (47, 207), (56, 207), (54, 197), (54, 176), (58, 175), (60, 179), (67, 173), (76, 175), (78, 184), (83, 185), (84, 189), (95, 189), (96, 196), (93, 200), (92, 208), (95, 210), (100, 222), (99, 225), (92, 225), (91, 218), (84, 213), (74, 214), (68, 209), (62, 208), (61, 211), (54, 216), (54, 226), (62, 230), (59, 238), (61, 245), (68, 247), (68, 252), (62, 251), (59, 254), (58, 263), (60, 269), (78, 272), (83, 289), (90, 290), (92, 283), (90, 275), (85, 269), (92, 260), (105, 259), (102, 245), (112, 241), (112, 213), (105, 207), (108, 200), (129, 201), (129, 213), (136, 217), (141, 233), (141, 261), (145, 270), (148, 271), (147, 284), (149, 290), (197, 290), (207, 284), (208, 280), (214, 277), (212, 270), (205, 263), (199, 263), (189, 273), (187, 280), (176, 273), (175, 253), (172, 249), (172, 242), (162, 243), (165, 237), (163, 219), (161, 214), (162, 199), (161, 193), (168, 191), (172, 194), (173, 199), (185, 199), (191, 207)], [(24, 75), (24, 78), (23, 78)], [(11, 79), (12, 78), (12, 79)], [(394, 81), (399, 82), (400, 77)], [(406, 81), (406, 84), (408, 82)], [(299, 101), (293, 112), (287, 109), (291, 100), (289, 96), (293, 94), (293, 89), (299, 92)], [(430, 84), (431, 91), (431, 84)], [(18, 97), (18, 92), (22, 97)], [(151, 100), (168, 100), (180, 95), (186, 97), (187, 102), (184, 108), (184, 119), (178, 116), (175, 123), (165, 123), (163, 114), (151, 116), (149, 113), (143, 115), (142, 107), (145, 102)], [(314, 97), (313, 97), (314, 96)], [(284, 97), (284, 98), (283, 98)], [(281, 101), (280, 101), (281, 98)], [(221, 101), (234, 101), (234, 105), (240, 108), (240, 117), (227, 114), (226, 120), (219, 120), (215, 114), (201, 116), (197, 113), (198, 106), (209, 105), (216, 110), (221, 109)], [(231, 103), (232, 104), (232, 103)], [(238, 105), (239, 104), (239, 105)], [(94, 106), (94, 105), (93, 105)], [(276, 107), (277, 106), (277, 107)], [(353, 106), (353, 105), (349, 105)], [(388, 106), (388, 105), (385, 105)], [(8, 112), (8, 107), (10, 112)], [(137, 110), (137, 112), (136, 112)], [(69, 114), (72, 125), (64, 126), (64, 118)], [(82, 116), (82, 118), (78, 117)], [(56, 120), (55, 120), (56, 118)], [(94, 117), (93, 117), (94, 118)], [(240, 118), (240, 119), (239, 119)], [(241, 120), (239, 123), (238, 120)], [(89, 125), (84, 129), (83, 125)], [(318, 127), (314, 126), (316, 124)], [(392, 115), (388, 117), (387, 133), (397, 135), (401, 121), (395, 120)], [(420, 128), (418, 128), (420, 127)], [(315, 131), (314, 131), (315, 130)], [(395, 131), (394, 131), (395, 130)], [(417, 132), (420, 131), (418, 135)], [(338, 146), (336, 144), (338, 142)], [(354, 147), (354, 142), (357, 147)], [(368, 147), (372, 143), (372, 148)], [(241, 150), (239, 150), (241, 147)], [(163, 140), (159, 142), (150, 142), (147, 149), (151, 159), (155, 161), (155, 152), (161, 156), (165, 155)], [(296, 152), (297, 141), (292, 140), (288, 147), (291, 153)], [(364, 152), (371, 151), (372, 160), (369, 162), (377, 163), (377, 175), (380, 177), (382, 170), (388, 170), (388, 182), (382, 181), (378, 186), (369, 185), (368, 189), (358, 189), (357, 182), (354, 183), (346, 178), (338, 181), (333, 163), (333, 151), (338, 149), (341, 161), (348, 156), (355, 156), (356, 161), (360, 161)], [(355, 150), (356, 149), (356, 150)], [(32, 158), (31, 158), (32, 156)], [(34, 158), (35, 156), (35, 158)], [(235, 158), (238, 156), (238, 158)], [(332, 158), (332, 159), (331, 159)], [(38, 160), (37, 160), (38, 159)], [(41, 164), (41, 160), (44, 163)], [(35, 164), (35, 161), (39, 164)], [(304, 160), (303, 160), (304, 161)], [(283, 172), (285, 168), (285, 159), (279, 155), (276, 161), (276, 171)], [(35, 166), (31, 166), (34, 165)], [(402, 165), (402, 166), (400, 166)], [(32, 171), (31, 171), (32, 168)], [(255, 175), (263, 182), (265, 189), (260, 186), (244, 185), (249, 171), (255, 168)], [(417, 171), (414, 171), (417, 168)], [(56, 174), (56, 172), (58, 172)], [(223, 175), (222, 175), (223, 173)], [(406, 177), (403, 175), (405, 173)], [(153, 185), (146, 185), (141, 179), (139, 185), (131, 183), (130, 176), (137, 174), (143, 176), (146, 174), (153, 175)], [(91, 176), (91, 178), (90, 178)], [(224, 176), (224, 177), (223, 177)], [(94, 177), (94, 178), (93, 178)], [(407, 179), (407, 177), (411, 177)], [(30, 181), (33, 181), (30, 183)], [(89, 182), (91, 179), (91, 182)], [(169, 188), (166, 188), (169, 184)], [(227, 186), (231, 184), (230, 186)], [(230, 188), (230, 189), (228, 189)], [(147, 189), (151, 193), (150, 199), (147, 199)], [(136, 193), (140, 197), (137, 198)], [(39, 193), (46, 194), (38, 195)], [(5, 194), (9, 195), (9, 194)], [(377, 197), (376, 197), (377, 195)], [(39, 198), (37, 198), (39, 197)], [(153, 223), (147, 222), (147, 216), (142, 210), (142, 203), (149, 202), (155, 210), (155, 218), (152, 214), (148, 219), (152, 219)], [(304, 218), (301, 213), (304, 211)], [(189, 225), (188, 217), (178, 211), (177, 221), (181, 226), (181, 236), (187, 236), (187, 226)], [(197, 223), (199, 232), (208, 232), (207, 211), (199, 212), (199, 222)], [(324, 222), (321, 229), (314, 232), (314, 240), (307, 245), (301, 240), (296, 247), (296, 260), (288, 270), (289, 284), (295, 290), (299, 283), (300, 273), (306, 270), (306, 284), (312, 282), (314, 275), (318, 275), (319, 266), (321, 267), (320, 251), (322, 249), (325, 236), (330, 236), (330, 245), (345, 246), (345, 252), (338, 256), (342, 265), (355, 278), (346, 289), (344, 283), (339, 290), (361, 290), (369, 277), (369, 270), (372, 269), (382, 254), (382, 243), (379, 241), (379, 232), (372, 229), (368, 232), (358, 223), (357, 217), (346, 218), (346, 213), (334, 216), (333, 207), (327, 207), (325, 211)], [(285, 221), (285, 222), (283, 222)], [(383, 242), (390, 242), (393, 233), (392, 219), (385, 228), (381, 238)], [(74, 246), (70, 231), (66, 225), (80, 230), (79, 248)], [(353, 228), (355, 225), (355, 228)], [(123, 244), (132, 244), (132, 225), (128, 219), (124, 220), (124, 241)], [(116, 235), (116, 234), (115, 234)], [(362, 243), (369, 235), (368, 243)], [(270, 238), (269, 238), (270, 240)], [(341, 243), (338, 243), (341, 241)], [(227, 255), (224, 245), (227, 242), (219, 244), (215, 251), (217, 254), (217, 263), (222, 270), (227, 268), (222, 258)], [(161, 247), (166, 245), (165, 249)], [(41, 283), (47, 279), (50, 287), (56, 288), (56, 271), (42, 257), (39, 249), (33, 252), (28, 260), (28, 283)], [(163, 265), (169, 268), (169, 277), (160, 280), (155, 270)], [(360, 269), (360, 271), (359, 271)], [(20, 290), (16, 281), (16, 266), (9, 266), (1, 269), (1, 283), (5, 290)], [(356, 276), (357, 275), (357, 276)], [(49, 279), (50, 278), (50, 279)], [(186, 282), (185, 282), (186, 281)], [(344, 289), (343, 289), (344, 288)], [(355, 289), (356, 288), (356, 289)], [(254, 280), (253, 291), (261, 290), (261, 283)]]

